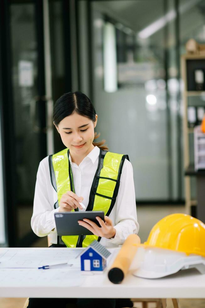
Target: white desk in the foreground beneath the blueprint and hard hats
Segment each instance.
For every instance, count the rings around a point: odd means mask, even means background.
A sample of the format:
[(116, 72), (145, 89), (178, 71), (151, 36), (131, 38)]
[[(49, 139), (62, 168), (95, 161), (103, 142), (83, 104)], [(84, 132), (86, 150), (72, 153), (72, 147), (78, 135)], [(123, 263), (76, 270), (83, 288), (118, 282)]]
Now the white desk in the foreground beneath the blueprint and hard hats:
[[(32, 250), (32, 248), (22, 248)], [(45, 248), (38, 248), (39, 254)], [(63, 248), (52, 248), (52, 250)], [(0, 253), (5, 248), (0, 249)], [(16, 250), (16, 248), (6, 248)], [(36, 249), (35, 249), (36, 250)], [(48, 248), (51, 251), (50, 248)], [(107, 278), (107, 270), (103, 274), (82, 275), (80, 286), (67, 285), (65, 272), (59, 276), (59, 269), (44, 270), (44, 275), (51, 275), (52, 281), (48, 284), (41, 282), (29, 283), (27, 280), (15, 278), (11, 285), (4, 284), (1, 275), (11, 269), (0, 269), (0, 297), (67, 297), (67, 298), (204, 298), (205, 275), (195, 269), (184, 270), (169, 277), (159, 279), (137, 278), (130, 274), (121, 284), (113, 284)], [(13, 277), (20, 277), (24, 269), (13, 269)], [(26, 269), (28, 271), (28, 269)], [(38, 269), (30, 269), (30, 275)], [(47, 272), (46, 272), (47, 271)], [(68, 270), (68, 275), (75, 277), (77, 269)], [(80, 274), (81, 275), (81, 274)], [(56, 278), (55, 278), (56, 276)], [(71, 277), (71, 276), (70, 276)], [(17, 280), (17, 281), (16, 281)], [(73, 280), (74, 281), (74, 280)]]

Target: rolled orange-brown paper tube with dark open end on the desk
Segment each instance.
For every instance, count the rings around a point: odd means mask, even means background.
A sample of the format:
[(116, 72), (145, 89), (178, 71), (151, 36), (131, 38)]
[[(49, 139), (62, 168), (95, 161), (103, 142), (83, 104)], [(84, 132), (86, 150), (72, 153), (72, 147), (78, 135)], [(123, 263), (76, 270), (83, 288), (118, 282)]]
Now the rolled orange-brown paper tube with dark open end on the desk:
[(121, 283), (127, 275), (130, 264), (137, 252), (140, 238), (137, 234), (130, 234), (118, 252), (109, 272), (108, 278), (112, 283)]

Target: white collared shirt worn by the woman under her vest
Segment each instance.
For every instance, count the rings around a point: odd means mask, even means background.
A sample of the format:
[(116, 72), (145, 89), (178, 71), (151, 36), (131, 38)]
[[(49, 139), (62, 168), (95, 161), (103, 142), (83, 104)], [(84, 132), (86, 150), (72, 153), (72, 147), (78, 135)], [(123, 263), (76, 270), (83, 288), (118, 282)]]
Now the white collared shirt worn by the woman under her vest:
[[(85, 207), (89, 203), (90, 189), (97, 170), (99, 154), (100, 149), (95, 146), (79, 166), (72, 162), (69, 155), (75, 193), (84, 198), (83, 204)], [(49, 235), (53, 244), (57, 244), (54, 213), (58, 212), (59, 208), (54, 209), (56, 201), (57, 192), (51, 184), (47, 156), (40, 162), (37, 172), (31, 228), (40, 237)], [(138, 233), (139, 225), (137, 222), (133, 169), (132, 164), (127, 159), (125, 159), (122, 167), (118, 195), (109, 217), (116, 229), (116, 235), (113, 239), (101, 238), (100, 243), (102, 245), (116, 247), (122, 245), (129, 234)], [(54, 231), (51, 231), (52, 229)]]

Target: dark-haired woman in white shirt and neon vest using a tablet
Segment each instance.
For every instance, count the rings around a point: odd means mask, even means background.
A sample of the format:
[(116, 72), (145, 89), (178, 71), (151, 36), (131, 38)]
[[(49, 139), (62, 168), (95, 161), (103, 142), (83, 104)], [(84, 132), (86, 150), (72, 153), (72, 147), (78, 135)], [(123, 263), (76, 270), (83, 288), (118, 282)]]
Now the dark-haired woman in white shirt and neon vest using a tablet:
[[(105, 141), (93, 142), (98, 137), (94, 133), (97, 119), (92, 103), (81, 92), (62, 95), (54, 106), (53, 123), (66, 149), (40, 162), (31, 218), (35, 234), (48, 235), (52, 247), (86, 247), (94, 239), (117, 247), (129, 234), (138, 233), (132, 165), (127, 156), (107, 152)], [(58, 237), (54, 213), (85, 211), (81, 202), (86, 210), (103, 210), (105, 222), (97, 217), (100, 228), (84, 219), (78, 223), (94, 235)], [(86, 306), (79, 301), (78, 306)], [(115, 307), (113, 301), (100, 303)], [(28, 307), (33, 307), (31, 302)], [(96, 300), (93, 306), (100, 307)]]

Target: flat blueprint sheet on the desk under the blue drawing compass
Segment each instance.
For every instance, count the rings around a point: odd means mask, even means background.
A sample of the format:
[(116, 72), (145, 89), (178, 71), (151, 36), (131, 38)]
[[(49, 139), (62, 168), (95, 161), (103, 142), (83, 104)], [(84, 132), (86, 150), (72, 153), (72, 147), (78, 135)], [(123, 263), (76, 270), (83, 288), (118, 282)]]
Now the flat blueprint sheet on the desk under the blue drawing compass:
[[(1, 287), (80, 286), (85, 277), (81, 275), (79, 255), (82, 249), (68, 248), (3, 248), (0, 249)], [(68, 262), (72, 267), (38, 269), (42, 265)]]

